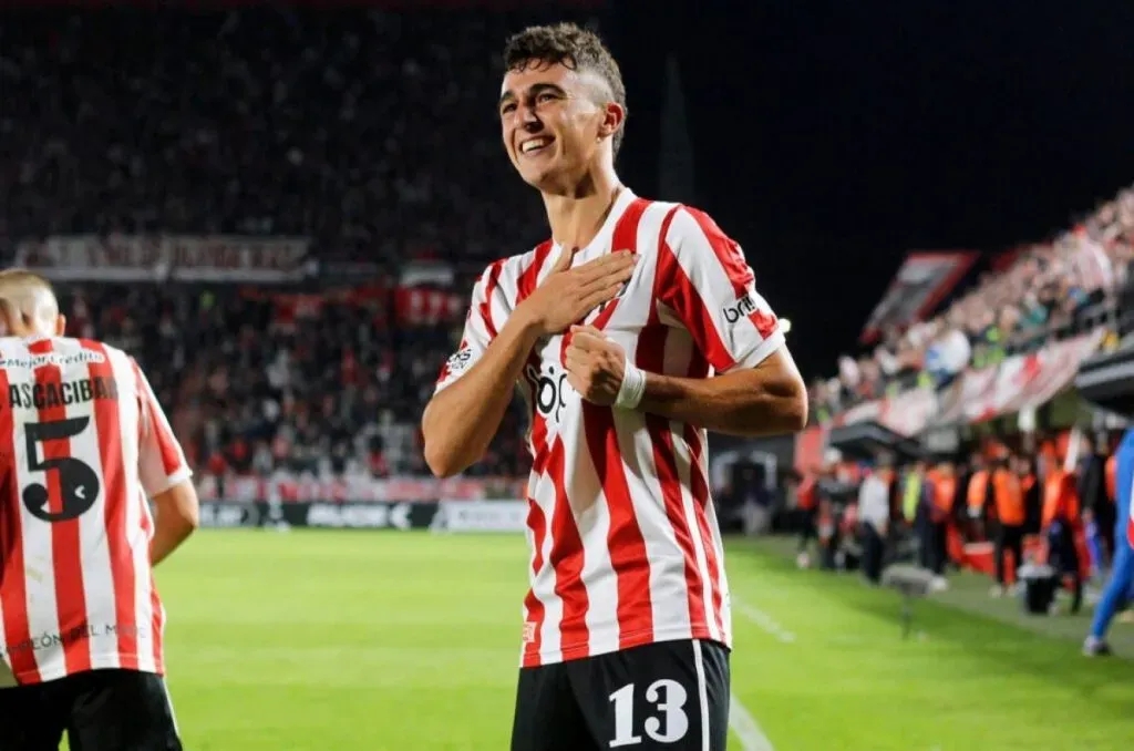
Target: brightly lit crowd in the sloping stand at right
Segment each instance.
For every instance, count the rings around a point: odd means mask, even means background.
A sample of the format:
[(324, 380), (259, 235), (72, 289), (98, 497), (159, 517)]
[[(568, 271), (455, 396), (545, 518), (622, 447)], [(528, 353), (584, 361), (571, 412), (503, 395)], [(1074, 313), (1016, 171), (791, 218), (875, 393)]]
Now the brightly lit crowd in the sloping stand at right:
[(1134, 187), (1053, 242), (1014, 251), (999, 269), (931, 320), (885, 332), (869, 353), (839, 357), (838, 376), (811, 386), (821, 417), (914, 383), (941, 386), (968, 366), (995, 364), (1114, 303), (1134, 262)]

